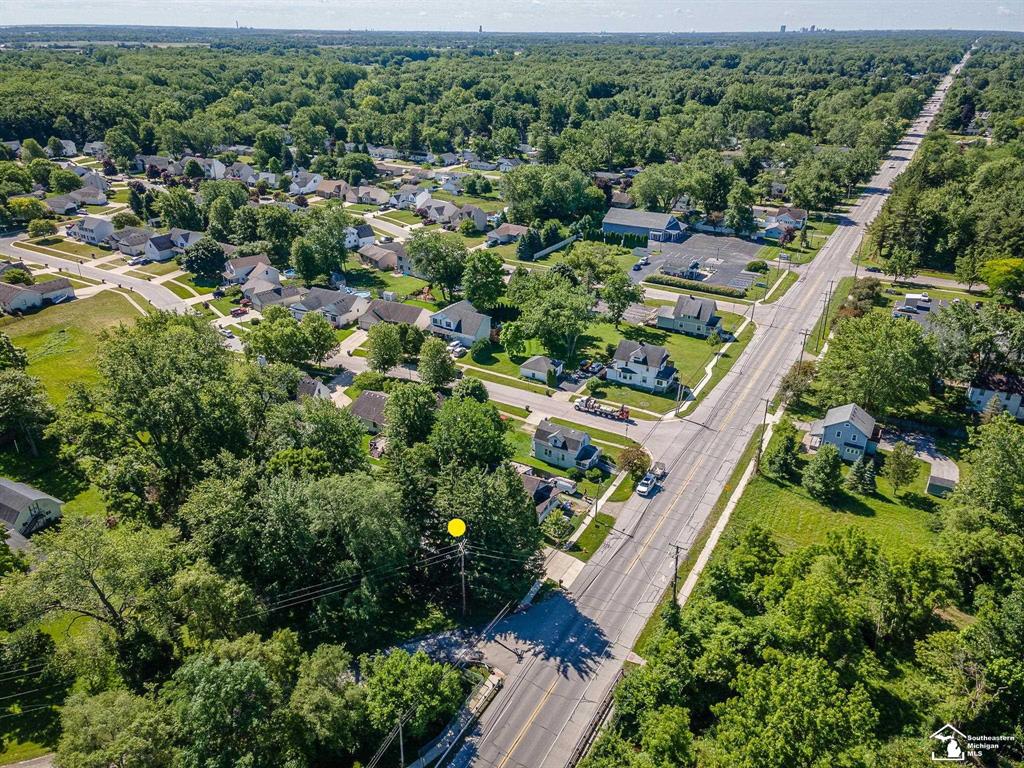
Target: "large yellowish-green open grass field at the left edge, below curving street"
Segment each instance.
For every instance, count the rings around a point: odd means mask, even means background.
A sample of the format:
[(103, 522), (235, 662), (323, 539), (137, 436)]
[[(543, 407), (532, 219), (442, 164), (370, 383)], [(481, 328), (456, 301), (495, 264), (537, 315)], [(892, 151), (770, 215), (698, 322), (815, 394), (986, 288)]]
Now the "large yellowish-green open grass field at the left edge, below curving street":
[(42, 379), (50, 397), (61, 402), (72, 382), (98, 380), (95, 356), (99, 332), (133, 323), (138, 310), (123, 296), (103, 291), (87, 299), (48, 306), (22, 319), (0, 321), (0, 329), (29, 353), (29, 373)]

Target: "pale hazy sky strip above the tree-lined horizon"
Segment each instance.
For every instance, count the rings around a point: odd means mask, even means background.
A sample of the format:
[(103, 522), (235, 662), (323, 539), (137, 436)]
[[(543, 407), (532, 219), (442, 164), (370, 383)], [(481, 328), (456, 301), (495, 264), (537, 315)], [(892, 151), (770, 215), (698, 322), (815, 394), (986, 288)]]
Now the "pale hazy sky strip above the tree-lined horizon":
[(0, 0), (0, 24), (490, 32), (1024, 31), (1024, 0)]

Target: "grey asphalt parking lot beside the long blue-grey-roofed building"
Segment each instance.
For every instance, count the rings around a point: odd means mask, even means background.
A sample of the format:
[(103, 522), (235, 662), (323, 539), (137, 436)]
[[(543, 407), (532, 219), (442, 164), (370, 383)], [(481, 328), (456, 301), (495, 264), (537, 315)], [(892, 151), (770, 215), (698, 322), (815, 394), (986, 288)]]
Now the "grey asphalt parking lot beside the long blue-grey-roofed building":
[[(691, 234), (682, 243), (651, 243), (653, 265), (666, 274), (745, 291), (761, 275), (746, 271), (761, 245), (748, 240)], [(660, 251), (660, 254), (657, 254)]]

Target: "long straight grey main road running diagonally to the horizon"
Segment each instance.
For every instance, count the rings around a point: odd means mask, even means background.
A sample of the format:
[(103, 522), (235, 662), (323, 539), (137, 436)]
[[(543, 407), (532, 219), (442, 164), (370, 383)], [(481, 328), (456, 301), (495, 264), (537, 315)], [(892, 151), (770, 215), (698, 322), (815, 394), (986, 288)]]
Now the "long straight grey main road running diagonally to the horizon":
[(780, 301), (758, 307), (758, 331), (729, 374), (686, 419), (651, 430), (644, 444), (670, 470), (660, 492), (625, 505), (570, 591), (502, 622), (484, 642), (487, 659), (508, 677), (453, 765), (562, 768), (569, 761), (671, 584), (676, 546), (681, 554), (693, 546), (762, 421), (766, 398), (802, 354), (800, 332), (821, 313), (829, 283), (853, 273), (864, 226), (909, 163), (958, 70), (943, 80), (798, 283)]

